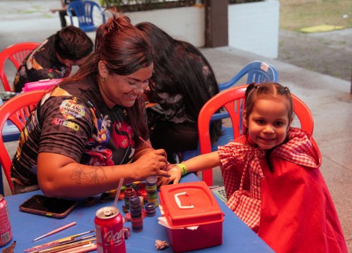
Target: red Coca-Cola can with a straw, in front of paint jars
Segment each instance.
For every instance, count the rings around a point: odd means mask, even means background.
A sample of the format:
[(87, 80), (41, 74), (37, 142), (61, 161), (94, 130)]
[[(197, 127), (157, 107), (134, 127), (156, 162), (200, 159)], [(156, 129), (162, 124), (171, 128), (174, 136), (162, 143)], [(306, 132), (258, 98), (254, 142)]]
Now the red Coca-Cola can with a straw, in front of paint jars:
[(117, 207), (103, 207), (94, 219), (96, 246), (99, 253), (125, 253), (123, 220)]

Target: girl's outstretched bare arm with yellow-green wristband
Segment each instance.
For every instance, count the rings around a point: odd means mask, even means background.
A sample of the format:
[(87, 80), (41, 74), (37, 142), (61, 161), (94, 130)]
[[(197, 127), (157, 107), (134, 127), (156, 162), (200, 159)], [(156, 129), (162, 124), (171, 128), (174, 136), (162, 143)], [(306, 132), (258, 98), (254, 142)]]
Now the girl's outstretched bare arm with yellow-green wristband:
[[(220, 157), (218, 151), (212, 153), (198, 155), (191, 159), (182, 162), (184, 167), (187, 169), (187, 173), (204, 171), (206, 169), (213, 169), (213, 167), (220, 166)], [(167, 168), (168, 173), (171, 175), (170, 178), (159, 178), (158, 186), (173, 183), (179, 183), (182, 177), (182, 169), (176, 164), (170, 164)], [(184, 172), (183, 172), (184, 174)]]

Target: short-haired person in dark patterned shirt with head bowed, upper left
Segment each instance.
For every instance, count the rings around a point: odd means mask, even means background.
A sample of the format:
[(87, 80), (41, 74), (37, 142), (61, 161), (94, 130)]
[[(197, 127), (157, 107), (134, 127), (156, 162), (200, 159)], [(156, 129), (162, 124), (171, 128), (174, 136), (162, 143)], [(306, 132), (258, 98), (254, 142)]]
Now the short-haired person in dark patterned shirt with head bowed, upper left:
[(23, 60), (13, 82), (15, 92), (21, 92), (27, 82), (68, 77), (72, 66), (82, 65), (93, 46), (92, 39), (80, 28), (64, 27)]

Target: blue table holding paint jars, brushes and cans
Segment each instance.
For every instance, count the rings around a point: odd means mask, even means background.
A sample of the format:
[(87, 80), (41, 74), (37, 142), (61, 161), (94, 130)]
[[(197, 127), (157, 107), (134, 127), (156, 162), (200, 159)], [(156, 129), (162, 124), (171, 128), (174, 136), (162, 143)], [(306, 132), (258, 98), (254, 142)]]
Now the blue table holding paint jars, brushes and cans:
[[(182, 182), (199, 181), (194, 174), (188, 174), (182, 178)], [(15, 252), (23, 252), (35, 245), (40, 245), (44, 242), (51, 242), (70, 235), (91, 231), (94, 229), (94, 217), (96, 210), (101, 207), (113, 205), (111, 202), (102, 203), (99, 197), (96, 197), (96, 205), (93, 207), (85, 207), (84, 200), (80, 200), (79, 204), (72, 213), (64, 219), (54, 219), (45, 216), (38, 216), (35, 214), (27, 214), (20, 212), (18, 206), (35, 194), (41, 194), (41, 191), (34, 191), (32, 193), (24, 193), (20, 195), (13, 195), (5, 197), (8, 212), (11, 219), (11, 227), (13, 231), (13, 239), (16, 241)], [(222, 223), (223, 242), (217, 247), (210, 247), (206, 249), (199, 249), (194, 252), (273, 252), (273, 250), (261, 240), (256, 233), (246, 226), (218, 197), (216, 197), (222, 212), (225, 214), (224, 222)], [(122, 200), (118, 201), (118, 208), (122, 210)], [(144, 230), (140, 233), (134, 233), (131, 229), (130, 238), (126, 240), (127, 252), (153, 252), (156, 253), (155, 240), (167, 240), (165, 228), (158, 224), (158, 217), (161, 216), (160, 210), (157, 209), (156, 216), (146, 217), (144, 219)], [(77, 224), (67, 228), (54, 235), (50, 235), (36, 242), (32, 242), (34, 238), (38, 238), (45, 233), (49, 233), (55, 228), (64, 226), (68, 223), (76, 221)], [(131, 223), (126, 222), (124, 226), (131, 228)], [(189, 238), (191, 240), (191, 238)], [(11, 245), (0, 247), (4, 249)], [(171, 247), (164, 249), (163, 252), (172, 252)]]

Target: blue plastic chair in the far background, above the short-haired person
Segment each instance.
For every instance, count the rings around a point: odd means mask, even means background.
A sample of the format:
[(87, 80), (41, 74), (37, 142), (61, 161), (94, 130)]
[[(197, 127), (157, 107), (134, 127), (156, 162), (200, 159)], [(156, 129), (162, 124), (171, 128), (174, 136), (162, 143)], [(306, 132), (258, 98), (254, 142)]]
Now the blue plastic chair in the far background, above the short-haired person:
[(68, 4), (67, 14), (70, 17), (71, 25), (74, 25), (73, 22), (73, 12), (78, 18), (78, 27), (84, 32), (94, 32), (96, 27), (101, 25), (101, 23), (94, 24), (94, 12), (99, 11), (102, 17), (102, 23), (105, 23), (105, 15), (101, 11), (99, 4), (96, 4), (94, 1), (73, 1)]

